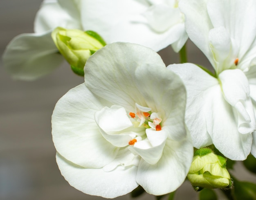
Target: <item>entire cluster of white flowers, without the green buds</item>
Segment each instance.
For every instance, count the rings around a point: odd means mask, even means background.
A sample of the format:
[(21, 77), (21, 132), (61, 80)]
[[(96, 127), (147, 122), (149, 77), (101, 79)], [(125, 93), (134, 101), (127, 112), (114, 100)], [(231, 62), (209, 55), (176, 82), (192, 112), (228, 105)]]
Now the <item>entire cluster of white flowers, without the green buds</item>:
[[(163, 195), (184, 182), (193, 147), (256, 157), (255, 11), (255, 0), (44, 0), (35, 33), (14, 38), (3, 61), (14, 78), (33, 80), (63, 60), (56, 27), (99, 33), (108, 45), (52, 115), (58, 167), (91, 195), (115, 198), (138, 185)], [(178, 52), (188, 37), (214, 74), (166, 67), (155, 52)]]

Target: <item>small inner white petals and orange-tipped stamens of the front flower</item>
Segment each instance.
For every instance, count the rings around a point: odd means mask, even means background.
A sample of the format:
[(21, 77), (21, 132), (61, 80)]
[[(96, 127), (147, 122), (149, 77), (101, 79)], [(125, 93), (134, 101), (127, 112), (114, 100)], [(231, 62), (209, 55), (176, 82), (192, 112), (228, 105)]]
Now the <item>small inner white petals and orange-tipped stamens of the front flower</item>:
[(153, 165), (161, 158), (167, 138), (160, 116), (135, 103), (135, 112), (127, 113), (124, 107), (112, 105), (95, 112), (94, 119), (108, 142), (115, 147), (127, 147)]

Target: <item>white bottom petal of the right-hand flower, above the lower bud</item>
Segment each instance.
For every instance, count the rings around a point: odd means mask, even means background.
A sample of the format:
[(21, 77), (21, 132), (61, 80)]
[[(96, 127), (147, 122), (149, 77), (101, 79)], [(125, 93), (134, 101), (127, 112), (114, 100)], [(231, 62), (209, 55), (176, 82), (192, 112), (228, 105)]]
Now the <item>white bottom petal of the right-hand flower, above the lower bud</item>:
[(232, 106), (225, 101), (220, 89), (208, 104), (211, 114), (205, 116), (207, 131), (215, 147), (231, 160), (244, 160), (251, 151), (252, 134), (238, 132)]

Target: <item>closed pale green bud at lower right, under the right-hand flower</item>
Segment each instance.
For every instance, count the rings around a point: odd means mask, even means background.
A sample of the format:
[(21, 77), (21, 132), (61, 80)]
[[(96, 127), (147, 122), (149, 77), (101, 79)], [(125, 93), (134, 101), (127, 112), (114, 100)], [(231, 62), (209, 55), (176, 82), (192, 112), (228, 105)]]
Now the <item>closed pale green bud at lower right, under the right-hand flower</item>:
[(195, 151), (188, 179), (197, 188), (225, 188), (231, 183), (226, 159), (207, 148)]

